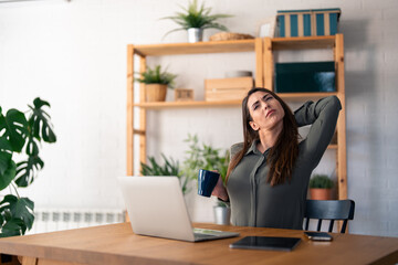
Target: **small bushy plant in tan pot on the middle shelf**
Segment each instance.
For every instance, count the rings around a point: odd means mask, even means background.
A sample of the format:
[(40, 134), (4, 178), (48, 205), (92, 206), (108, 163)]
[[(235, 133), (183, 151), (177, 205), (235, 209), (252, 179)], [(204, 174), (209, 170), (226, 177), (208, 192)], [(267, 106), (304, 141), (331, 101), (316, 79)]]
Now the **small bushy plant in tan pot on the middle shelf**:
[(167, 87), (174, 88), (177, 77), (175, 74), (163, 72), (160, 65), (156, 65), (155, 68), (147, 66), (147, 70), (139, 75), (136, 81), (145, 84), (147, 102), (165, 102)]

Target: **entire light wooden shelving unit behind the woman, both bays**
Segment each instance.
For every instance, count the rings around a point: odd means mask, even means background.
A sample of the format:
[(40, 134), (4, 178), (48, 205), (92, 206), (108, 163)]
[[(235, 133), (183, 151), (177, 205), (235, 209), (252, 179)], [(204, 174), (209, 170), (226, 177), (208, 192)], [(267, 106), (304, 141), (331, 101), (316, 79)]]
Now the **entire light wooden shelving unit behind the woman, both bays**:
[[(306, 38), (264, 38), (254, 40), (171, 43), (127, 46), (127, 174), (134, 173), (134, 135), (139, 135), (139, 161), (146, 159), (146, 112), (148, 109), (167, 108), (208, 108), (240, 106), (240, 100), (226, 102), (164, 102), (146, 103), (145, 86), (139, 86), (139, 100), (134, 98), (134, 64), (138, 55), (140, 72), (146, 68), (147, 56), (206, 54), (206, 53), (255, 53), (255, 86), (273, 89), (274, 52), (283, 50), (332, 49), (336, 68), (336, 87), (333, 93), (281, 93), (286, 102), (315, 100), (321, 97), (336, 95), (343, 105), (337, 121), (337, 144), (329, 145), (328, 149), (336, 150), (336, 168), (338, 178), (338, 199), (347, 198), (347, 162), (346, 162), (346, 120), (345, 120), (345, 87), (344, 87), (344, 39), (343, 34), (332, 36)], [(139, 112), (139, 127), (134, 128), (134, 112)]]

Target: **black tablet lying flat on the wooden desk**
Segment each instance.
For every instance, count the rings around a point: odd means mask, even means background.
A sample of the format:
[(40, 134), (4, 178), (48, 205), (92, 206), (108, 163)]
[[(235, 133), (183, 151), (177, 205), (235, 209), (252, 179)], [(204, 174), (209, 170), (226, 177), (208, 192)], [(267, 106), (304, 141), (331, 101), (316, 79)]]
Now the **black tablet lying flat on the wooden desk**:
[(245, 236), (230, 244), (231, 248), (292, 251), (298, 243), (298, 237)]

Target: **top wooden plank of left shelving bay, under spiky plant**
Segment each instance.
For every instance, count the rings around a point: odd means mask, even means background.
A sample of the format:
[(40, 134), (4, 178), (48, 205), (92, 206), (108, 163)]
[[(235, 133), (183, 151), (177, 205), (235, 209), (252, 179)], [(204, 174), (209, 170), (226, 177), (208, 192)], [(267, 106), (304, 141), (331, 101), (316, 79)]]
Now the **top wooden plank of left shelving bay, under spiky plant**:
[(135, 45), (135, 52), (142, 56), (196, 54), (196, 53), (230, 53), (254, 52), (255, 39), (238, 41), (208, 41), (196, 43), (166, 43)]

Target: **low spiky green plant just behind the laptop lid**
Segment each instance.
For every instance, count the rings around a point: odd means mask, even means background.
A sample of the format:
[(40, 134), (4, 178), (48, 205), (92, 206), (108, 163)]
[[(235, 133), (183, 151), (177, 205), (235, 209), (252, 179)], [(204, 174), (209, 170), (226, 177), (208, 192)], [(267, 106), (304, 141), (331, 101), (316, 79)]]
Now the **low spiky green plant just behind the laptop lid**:
[(176, 176), (180, 179), (182, 194), (187, 194), (189, 192), (188, 178), (182, 177), (179, 162), (172, 158), (168, 159), (164, 153), (161, 153), (161, 157), (165, 160), (163, 166), (155, 160), (155, 157), (148, 157), (149, 163), (140, 163), (140, 173), (143, 176)]

